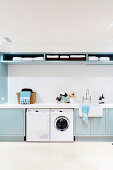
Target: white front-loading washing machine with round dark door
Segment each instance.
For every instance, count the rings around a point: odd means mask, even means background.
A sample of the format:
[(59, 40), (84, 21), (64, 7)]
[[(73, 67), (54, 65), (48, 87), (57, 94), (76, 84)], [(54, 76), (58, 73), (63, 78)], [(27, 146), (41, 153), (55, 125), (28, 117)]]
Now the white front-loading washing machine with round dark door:
[(50, 125), (50, 141), (73, 141), (73, 109), (52, 109)]

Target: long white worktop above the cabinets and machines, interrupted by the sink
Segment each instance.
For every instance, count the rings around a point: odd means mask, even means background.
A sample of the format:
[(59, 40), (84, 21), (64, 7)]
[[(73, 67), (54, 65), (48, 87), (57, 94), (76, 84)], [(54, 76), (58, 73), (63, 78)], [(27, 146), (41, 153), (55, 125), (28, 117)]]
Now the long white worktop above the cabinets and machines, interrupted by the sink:
[[(105, 103), (105, 104), (91, 104), (91, 106), (101, 107), (101, 108), (113, 108), (112, 103)], [(0, 104), (0, 108), (79, 108), (80, 104), (70, 104), (70, 103), (38, 103), (38, 104)]]

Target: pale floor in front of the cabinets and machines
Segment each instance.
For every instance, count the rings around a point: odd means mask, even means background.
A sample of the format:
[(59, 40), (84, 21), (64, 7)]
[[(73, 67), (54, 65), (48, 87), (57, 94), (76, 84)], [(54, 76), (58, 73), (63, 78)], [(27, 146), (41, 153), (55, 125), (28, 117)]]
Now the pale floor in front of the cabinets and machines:
[(0, 170), (113, 170), (113, 145), (0, 142)]

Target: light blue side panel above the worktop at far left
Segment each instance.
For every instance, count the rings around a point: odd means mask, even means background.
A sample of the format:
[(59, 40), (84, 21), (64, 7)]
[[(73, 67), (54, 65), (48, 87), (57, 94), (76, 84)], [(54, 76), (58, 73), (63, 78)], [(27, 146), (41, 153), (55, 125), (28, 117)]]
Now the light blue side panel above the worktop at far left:
[(1, 63), (0, 54), (0, 104), (7, 102), (8, 96), (8, 66)]

